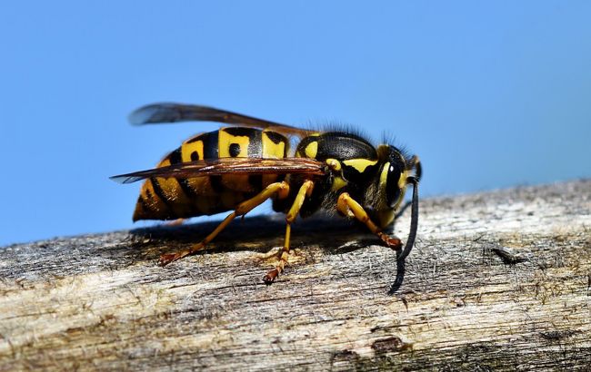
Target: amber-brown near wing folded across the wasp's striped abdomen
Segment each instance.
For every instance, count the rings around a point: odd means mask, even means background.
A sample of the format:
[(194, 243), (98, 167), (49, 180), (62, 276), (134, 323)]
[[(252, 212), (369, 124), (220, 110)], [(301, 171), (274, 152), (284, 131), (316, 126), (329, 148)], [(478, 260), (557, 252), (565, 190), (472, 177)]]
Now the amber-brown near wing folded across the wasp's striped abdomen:
[(221, 174), (326, 174), (326, 164), (308, 158), (222, 158), (196, 162), (180, 162), (146, 171), (110, 177), (120, 183), (132, 183), (146, 178), (194, 178)]

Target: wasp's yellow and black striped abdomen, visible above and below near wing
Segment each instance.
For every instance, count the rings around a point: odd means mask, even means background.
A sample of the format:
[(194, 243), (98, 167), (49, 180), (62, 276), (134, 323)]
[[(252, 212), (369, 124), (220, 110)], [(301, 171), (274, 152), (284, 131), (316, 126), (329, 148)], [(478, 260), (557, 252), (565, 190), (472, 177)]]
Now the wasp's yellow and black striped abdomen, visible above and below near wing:
[[(277, 132), (244, 127), (222, 128), (195, 135), (170, 152), (157, 167), (219, 158), (287, 156), (289, 141)], [(135, 204), (135, 220), (175, 220), (233, 210), (283, 176), (215, 175), (188, 179), (149, 178)]]

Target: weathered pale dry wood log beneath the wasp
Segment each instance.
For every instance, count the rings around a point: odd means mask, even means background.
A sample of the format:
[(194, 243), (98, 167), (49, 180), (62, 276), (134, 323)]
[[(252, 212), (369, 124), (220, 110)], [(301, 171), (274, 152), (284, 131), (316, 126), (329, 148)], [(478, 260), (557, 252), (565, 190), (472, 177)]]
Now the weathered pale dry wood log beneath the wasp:
[[(409, 215), (396, 221), (406, 239)], [(565, 369), (591, 365), (591, 181), (421, 201), (396, 255), (339, 219), (237, 220), (0, 249), (0, 370)]]

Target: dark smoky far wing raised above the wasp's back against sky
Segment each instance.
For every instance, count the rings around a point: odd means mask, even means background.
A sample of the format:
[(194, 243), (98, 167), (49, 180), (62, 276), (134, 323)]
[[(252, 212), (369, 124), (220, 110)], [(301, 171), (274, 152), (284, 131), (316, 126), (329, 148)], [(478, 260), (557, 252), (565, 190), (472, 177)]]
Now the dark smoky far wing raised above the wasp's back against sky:
[(129, 115), (129, 122), (134, 125), (158, 122), (225, 122), (251, 128), (269, 129), (298, 137), (305, 137), (310, 133), (305, 129), (257, 119), (242, 113), (232, 113), (214, 107), (184, 103), (153, 103), (145, 105)]

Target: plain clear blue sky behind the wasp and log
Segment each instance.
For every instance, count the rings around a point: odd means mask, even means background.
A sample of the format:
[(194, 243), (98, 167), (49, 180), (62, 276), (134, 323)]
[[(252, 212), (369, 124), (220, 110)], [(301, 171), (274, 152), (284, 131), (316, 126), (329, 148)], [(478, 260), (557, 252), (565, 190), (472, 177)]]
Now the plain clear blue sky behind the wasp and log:
[(590, 19), (574, 0), (3, 2), (0, 245), (131, 228), (139, 183), (108, 176), (217, 128), (126, 122), (161, 101), (389, 133), (423, 196), (589, 177)]

